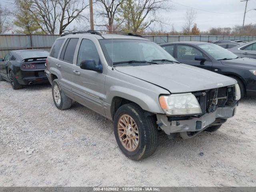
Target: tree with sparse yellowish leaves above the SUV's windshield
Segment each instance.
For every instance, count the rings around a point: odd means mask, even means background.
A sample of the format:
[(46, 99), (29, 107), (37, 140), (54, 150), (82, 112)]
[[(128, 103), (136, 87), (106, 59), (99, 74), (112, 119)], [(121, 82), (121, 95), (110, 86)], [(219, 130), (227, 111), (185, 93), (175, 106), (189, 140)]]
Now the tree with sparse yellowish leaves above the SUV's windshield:
[(120, 9), (122, 28), (127, 32), (141, 33), (154, 22), (161, 22), (156, 16), (158, 10), (169, 10), (168, 0), (126, 0)]

